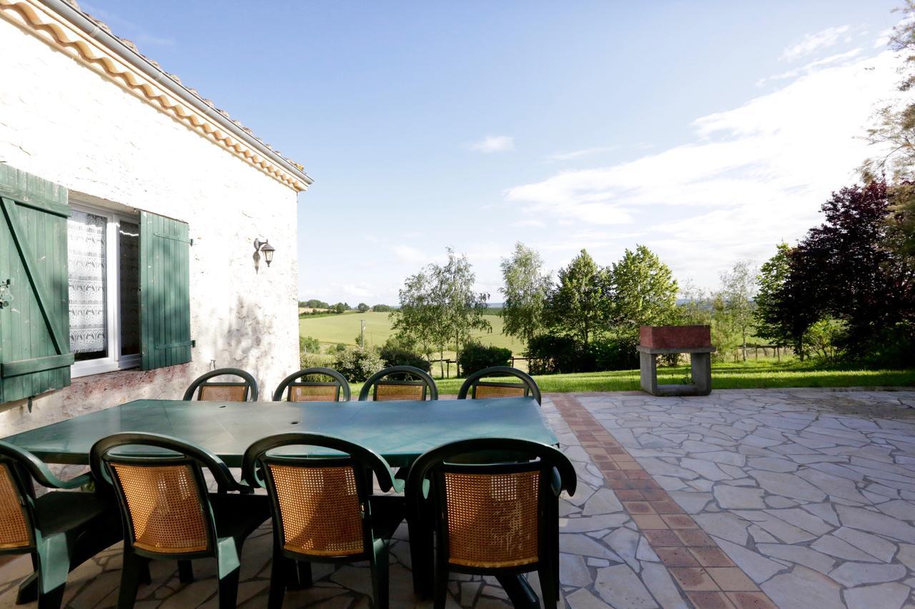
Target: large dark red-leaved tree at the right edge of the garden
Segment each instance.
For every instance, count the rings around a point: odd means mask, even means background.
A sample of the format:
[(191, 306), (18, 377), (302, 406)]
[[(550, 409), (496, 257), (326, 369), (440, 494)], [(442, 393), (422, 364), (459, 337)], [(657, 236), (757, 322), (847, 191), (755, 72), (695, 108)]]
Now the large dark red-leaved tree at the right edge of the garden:
[(847, 347), (860, 353), (888, 328), (915, 321), (915, 277), (886, 247), (889, 205), (883, 181), (843, 188), (823, 205), (825, 221), (791, 250), (778, 294), (779, 321), (792, 337), (837, 317), (848, 325)]

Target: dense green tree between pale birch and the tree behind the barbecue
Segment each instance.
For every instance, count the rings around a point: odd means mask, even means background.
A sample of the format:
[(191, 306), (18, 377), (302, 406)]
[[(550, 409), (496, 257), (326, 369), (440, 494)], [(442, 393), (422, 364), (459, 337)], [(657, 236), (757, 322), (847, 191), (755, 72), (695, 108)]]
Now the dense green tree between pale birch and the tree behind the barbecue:
[(610, 272), (582, 250), (558, 273), (558, 283), (546, 301), (546, 323), (587, 347), (591, 337), (606, 326), (609, 294)]

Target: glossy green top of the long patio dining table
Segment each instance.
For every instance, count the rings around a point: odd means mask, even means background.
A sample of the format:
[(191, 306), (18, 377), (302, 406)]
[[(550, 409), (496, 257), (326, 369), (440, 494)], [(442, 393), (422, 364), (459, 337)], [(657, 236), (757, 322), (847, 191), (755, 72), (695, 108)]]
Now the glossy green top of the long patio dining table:
[[(230, 467), (274, 433), (336, 435), (406, 466), (440, 444), (509, 437), (554, 444), (533, 398), (438, 401), (221, 402), (137, 400), (4, 438), (42, 461), (89, 463), (97, 440), (119, 432), (164, 433), (197, 443)], [(299, 449), (300, 450), (300, 449)]]

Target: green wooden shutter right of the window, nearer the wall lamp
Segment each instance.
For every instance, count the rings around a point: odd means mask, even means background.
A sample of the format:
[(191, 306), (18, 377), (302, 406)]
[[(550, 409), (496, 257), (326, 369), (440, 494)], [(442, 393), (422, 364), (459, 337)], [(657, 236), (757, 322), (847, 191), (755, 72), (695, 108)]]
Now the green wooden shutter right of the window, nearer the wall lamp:
[(188, 224), (140, 212), (142, 368), (190, 361)]

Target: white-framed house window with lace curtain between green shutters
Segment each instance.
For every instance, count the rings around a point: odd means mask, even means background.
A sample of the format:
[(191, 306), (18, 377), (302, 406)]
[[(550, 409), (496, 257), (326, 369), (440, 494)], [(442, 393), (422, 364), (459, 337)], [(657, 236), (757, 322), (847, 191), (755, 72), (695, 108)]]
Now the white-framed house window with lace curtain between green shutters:
[(70, 350), (74, 377), (140, 364), (140, 227), (70, 200), (67, 220)]

